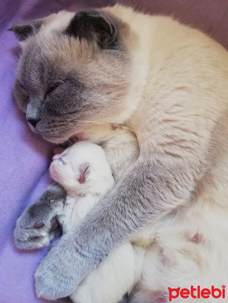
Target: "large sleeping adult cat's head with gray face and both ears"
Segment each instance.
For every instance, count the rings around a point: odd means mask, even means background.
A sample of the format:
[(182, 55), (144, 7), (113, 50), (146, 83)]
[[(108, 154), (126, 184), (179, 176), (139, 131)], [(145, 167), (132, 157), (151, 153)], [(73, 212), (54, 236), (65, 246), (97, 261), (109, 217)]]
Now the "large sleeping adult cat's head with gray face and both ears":
[(10, 29), (22, 46), (14, 93), (34, 132), (60, 143), (83, 130), (80, 121), (128, 118), (124, 26), (103, 11), (87, 10), (62, 11)]

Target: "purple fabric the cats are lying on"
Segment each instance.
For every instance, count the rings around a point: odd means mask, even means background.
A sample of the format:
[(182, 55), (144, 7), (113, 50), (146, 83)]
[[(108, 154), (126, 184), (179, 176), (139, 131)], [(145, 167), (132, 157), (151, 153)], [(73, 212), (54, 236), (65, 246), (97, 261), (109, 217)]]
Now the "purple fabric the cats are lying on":
[[(0, 303), (37, 303), (34, 271), (47, 249), (21, 252), (13, 243), (16, 219), (50, 182), (48, 164), (53, 145), (32, 133), (15, 107), (12, 85), (19, 54), (6, 29), (62, 9), (113, 5), (114, 0), (2, 0), (0, 4)], [(210, 34), (228, 48), (227, 0), (120, 1), (151, 14), (173, 15)]]

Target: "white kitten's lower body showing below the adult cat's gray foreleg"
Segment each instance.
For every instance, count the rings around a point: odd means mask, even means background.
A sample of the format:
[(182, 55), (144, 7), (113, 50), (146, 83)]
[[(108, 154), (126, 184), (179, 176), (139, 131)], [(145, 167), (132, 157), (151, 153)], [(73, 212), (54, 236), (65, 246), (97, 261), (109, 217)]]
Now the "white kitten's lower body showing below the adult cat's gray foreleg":
[(95, 268), (70, 295), (74, 303), (127, 302), (141, 274), (145, 250), (124, 242)]

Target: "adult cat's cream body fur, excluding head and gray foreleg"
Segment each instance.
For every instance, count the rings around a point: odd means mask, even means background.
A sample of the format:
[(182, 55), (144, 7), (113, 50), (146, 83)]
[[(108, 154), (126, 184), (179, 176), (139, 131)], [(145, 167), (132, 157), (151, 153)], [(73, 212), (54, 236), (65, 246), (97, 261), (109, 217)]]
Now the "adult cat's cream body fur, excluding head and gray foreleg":
[[(172, 213), (139, 237), (141, 244), (154, 242), (134, 302), (155, 302), (158, 293), (168, 302), (168, 287), (221, 288), (228, 281), (227, 52), (172, 18), (138, 14), (121, 6), (104, 11), (127, 23), (131, 32), (122, 33), (132, 62), (126, 102), (131, 100), (130, 111), (137, 111), (129, 120), (125, 112), (117, 121), (135, 126), (139, 146), (144, 149), (147, 144), (151, 157), (163, 153), (167, 165), (180, 157), (183, 163), (193, 159), (196, 171), (197, 166), (210, 164), (191, 203), (185, 205), (183, 197), (183, 205), (167, 209)], [(199, 242), (192, 240), (196, 233)], [(173, 301), (182, 303), (183, 298)]]

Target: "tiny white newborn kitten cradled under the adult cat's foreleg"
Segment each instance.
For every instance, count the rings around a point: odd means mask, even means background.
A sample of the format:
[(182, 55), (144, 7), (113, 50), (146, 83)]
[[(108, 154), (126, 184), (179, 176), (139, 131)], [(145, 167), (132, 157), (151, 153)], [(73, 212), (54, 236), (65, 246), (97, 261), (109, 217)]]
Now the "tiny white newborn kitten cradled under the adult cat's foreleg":
[[(78, 142), (53, 157), (51, 177), (67, 192), (63, 232), (78, 225), (113, 187), (114, 178), (104, 150)], [(77, 303), (117, 303), (139, 280), (144, 249), (124, 242), (94, 269), (71, 295)]]

